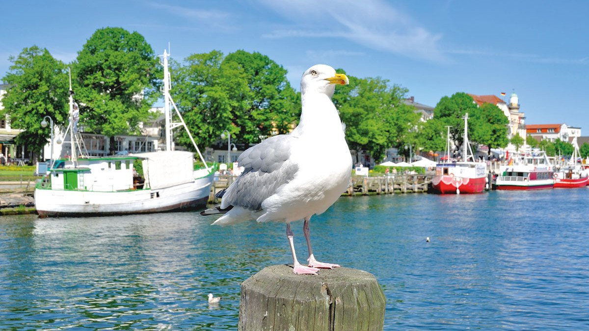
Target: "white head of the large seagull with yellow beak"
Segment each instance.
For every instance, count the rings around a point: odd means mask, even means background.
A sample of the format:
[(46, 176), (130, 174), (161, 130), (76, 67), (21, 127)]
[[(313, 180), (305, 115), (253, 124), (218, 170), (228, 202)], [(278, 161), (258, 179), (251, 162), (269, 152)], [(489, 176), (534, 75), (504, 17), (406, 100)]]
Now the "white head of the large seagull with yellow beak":
[(317, 64), (307, 69), (300, 79), (300, 92), (319, 92), (331, 98), (335, 86), (347, 85), (348, 77), (343, 73), (336, 73), (329, 65)]

